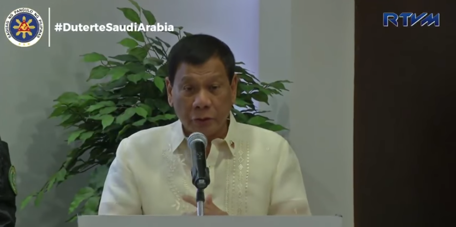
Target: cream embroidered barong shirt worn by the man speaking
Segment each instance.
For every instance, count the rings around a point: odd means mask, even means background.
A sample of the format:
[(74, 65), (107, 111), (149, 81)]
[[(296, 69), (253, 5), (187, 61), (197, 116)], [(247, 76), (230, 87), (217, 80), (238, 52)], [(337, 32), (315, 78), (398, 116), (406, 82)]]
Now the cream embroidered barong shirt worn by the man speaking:
[[(207, 157), (205, 190), (229, 215), (310, 215), (302, 174), (290, 144), (275, 132), (232, 119)], [(122, 140), (101, 196), (99, 215), (182, 215), (196, 195), (182, 124), (139, 131)]]

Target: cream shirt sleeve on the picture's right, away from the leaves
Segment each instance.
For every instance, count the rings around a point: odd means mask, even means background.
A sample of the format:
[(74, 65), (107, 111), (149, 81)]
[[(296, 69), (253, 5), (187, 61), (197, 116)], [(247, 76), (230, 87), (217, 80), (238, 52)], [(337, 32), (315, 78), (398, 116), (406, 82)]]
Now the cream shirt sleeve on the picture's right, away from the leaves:
[(310, 216), (311, 212), (296, 153), (286, 140), (283, 140), (279, 147), (280, 154), (268, 215)]

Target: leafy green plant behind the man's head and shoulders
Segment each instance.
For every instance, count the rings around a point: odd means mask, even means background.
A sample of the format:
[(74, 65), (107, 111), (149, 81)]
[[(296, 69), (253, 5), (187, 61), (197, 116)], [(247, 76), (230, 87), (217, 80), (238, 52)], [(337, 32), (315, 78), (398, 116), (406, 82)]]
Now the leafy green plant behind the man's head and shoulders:
[[(148, 24), (155, 24), (154, 15), (142, 9), (137, 2), (129, 0), (136, 8), (119, 8), (132, 22), (141, 23), (145, 18)], [(169, 31), (180, 40), (192, 34), (182, 27)], [(93, 171), (88, 184), (82, 187), (70, 204), (68, 221), (75, 220), (77, 214), (96, 214), (109, 165), (116, 156), (119, 142), (139, 130), (170, 124), (177, 119), (167, 102), (165, 77), (170, 44), (158, 37), (150, 37), (144, 32), (128, 32), (129, 38), (119, 41), (127, 51), (114, 57), (99, 53), (83, 55), (85, 62), (99, 62), (88, 80), (107, 80), (97, 83), (86, 92), (78, 94), (66, 92), (55, 100), (50, 117), (61, 118), (60, 126), (71, 129), (68, 144), (77, 143), (68, 152), (60, 169), (33, 195), (28, 196), (21, 207), (33, 198), (39, 205), (46, 191), (68, 180), (74, 175)], [(254, 101), (268, 103), (269, 97), (281, 95), (287, 90), (284, 83), (260, 82), (238, 62), (238, 99), (233, 113), (236, 120), (245, 124), (257, 125), (273, 131), (284, 130), (281, 125), (261, 116)], [(242, 110), (239, 110), (242, 109)], [(87, 157), (87, 158), (83, 158)]]

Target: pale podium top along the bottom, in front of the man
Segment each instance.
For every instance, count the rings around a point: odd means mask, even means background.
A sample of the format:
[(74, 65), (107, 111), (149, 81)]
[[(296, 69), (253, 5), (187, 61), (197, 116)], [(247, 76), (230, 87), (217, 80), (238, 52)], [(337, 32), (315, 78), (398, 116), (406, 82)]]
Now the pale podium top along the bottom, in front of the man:
[(342, 227), (339, 216), (79, 216), (78, 227)]

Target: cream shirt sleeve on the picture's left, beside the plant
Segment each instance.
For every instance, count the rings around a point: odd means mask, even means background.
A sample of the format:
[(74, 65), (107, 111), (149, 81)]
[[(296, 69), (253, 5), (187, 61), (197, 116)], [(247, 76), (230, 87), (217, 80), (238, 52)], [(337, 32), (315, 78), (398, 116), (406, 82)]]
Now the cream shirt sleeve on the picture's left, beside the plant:
[(127, 163), (131, 154), (128, 138), (123, 139), (109, 167), (99, 205), (99, 215), (141, 215), (141, 201), (135, 177)]

